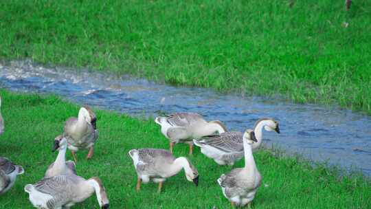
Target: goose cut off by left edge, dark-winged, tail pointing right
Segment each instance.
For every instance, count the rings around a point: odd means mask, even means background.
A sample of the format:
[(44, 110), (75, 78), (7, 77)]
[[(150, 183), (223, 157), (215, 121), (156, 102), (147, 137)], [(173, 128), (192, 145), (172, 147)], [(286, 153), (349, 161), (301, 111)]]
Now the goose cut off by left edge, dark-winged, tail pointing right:
[(22, 166), (13, 164), (6, 157), (0, 157), (0, 195), (10, 190), (16, 181), (16, 176), (23, 173)]

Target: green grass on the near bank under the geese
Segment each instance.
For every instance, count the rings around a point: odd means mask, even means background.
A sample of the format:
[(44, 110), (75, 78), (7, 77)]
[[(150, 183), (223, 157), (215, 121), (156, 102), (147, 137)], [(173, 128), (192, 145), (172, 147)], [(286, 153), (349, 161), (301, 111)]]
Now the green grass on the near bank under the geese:
[[(54, 161), (54, 137), (63, 130), (63, 122), (77, 115), (79, 107), (56, 96), (14, 94), (1, 90), (5, 133), (0, 136), (0, 155), (25, 168), (14, 187), (0, 197), (0, 208), (32, 208), (23, 191), (25, 184), (40, 180)], [(164, 184), (144, 184), (135, 192), (136, 173), (128, 151), (131, 148), (168, 148), (166, 138), (152, 120), (130, 118), (96, 110), (100, 137), (91, 160), (87, 151), (78, 152), (78, 175), (98, 176), (108, 192), (111, 208), (230, 208), (216, 179), (232, 167), (218, 166), (196, 148), (190, 160), (200, 174), (199, 187), (186, 180), (183, 171)], [(186, 145), (177, 144), (175, 155), (187, 155)], [(277, 157), (271, 151), (254, 153), (262, 174), (262, 186), (254, 199), (254, 208), (370, 208), (370, 179), (361, 175), (341, 176), (324, 166), (312, 168), (291, 157)], [(71, 154), (67, 152), (67, 158)], [(234, 168), (243, 166), (238, 162)], [(269, 185), (265, 187), (265, 184)], [(98, 208), (95, 197), (75, 208)]]

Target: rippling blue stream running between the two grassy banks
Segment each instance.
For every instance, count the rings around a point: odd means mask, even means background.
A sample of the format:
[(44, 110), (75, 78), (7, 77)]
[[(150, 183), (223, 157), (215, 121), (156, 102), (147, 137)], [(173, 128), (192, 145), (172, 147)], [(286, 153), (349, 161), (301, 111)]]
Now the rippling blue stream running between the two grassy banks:
[(0, 87), (54, 93), (129, 115), (192, 111), (207, 120), (221, 120), (234, 131), (245, 131), (259, 118), (272, 117), (280, 122), (281, 134), (263, 133), (265, 144), (371, 175), (371, 117), (348, 110), (171, 87), (129, 76), (42, 67), (30, 61), (0, 64)]

